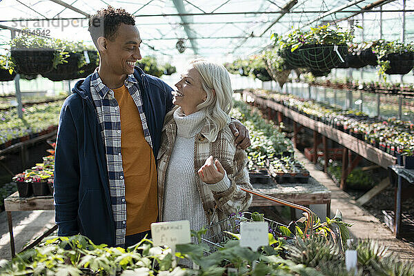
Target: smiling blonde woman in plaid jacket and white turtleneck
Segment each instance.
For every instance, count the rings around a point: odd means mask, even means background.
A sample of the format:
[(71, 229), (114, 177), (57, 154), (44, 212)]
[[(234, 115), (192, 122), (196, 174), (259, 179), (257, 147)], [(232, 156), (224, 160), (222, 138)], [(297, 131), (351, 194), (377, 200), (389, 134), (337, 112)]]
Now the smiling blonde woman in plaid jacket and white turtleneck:
[(252, 196), (247, 155), (228, 128), (233, 90), (224, 66), (190, 62), (164, 121), (158, 155), (159, 220), (203, 226), (245, 210)]

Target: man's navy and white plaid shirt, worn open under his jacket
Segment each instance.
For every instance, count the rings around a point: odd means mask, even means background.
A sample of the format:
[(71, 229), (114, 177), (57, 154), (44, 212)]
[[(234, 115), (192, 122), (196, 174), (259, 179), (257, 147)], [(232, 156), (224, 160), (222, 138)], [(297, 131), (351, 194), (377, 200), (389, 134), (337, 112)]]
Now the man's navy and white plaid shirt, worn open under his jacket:
[[(139, 111), (144, 137), (152, 148), (150, 131), (146, 122), (142, 105), (141, 92), (134, 75), (128, 75), (125, 80), (135, 105)], [(101, 125), (101, 135), (106, 149), (106, 165), (110, 190), (110, 202), (115, 222), (115, 245), (124, 246), (126, 233), (126, 199), (124, 169), (121, 157), (121, 115), (114, 92), (102, 83), (97, 70), (90, 80), (90, 92), (97, 110), (97, 119)]]

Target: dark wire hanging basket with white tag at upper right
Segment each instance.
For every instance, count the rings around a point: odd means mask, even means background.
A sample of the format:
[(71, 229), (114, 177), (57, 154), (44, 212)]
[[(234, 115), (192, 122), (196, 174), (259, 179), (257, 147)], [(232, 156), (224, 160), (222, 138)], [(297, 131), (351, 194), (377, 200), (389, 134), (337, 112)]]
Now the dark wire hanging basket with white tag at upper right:
[(348, 55), (348, 47), (309, 44), (299, 49), (299, 55), (304, 60), (307, 68), (327, 72), (345, 61), (344, 57)]

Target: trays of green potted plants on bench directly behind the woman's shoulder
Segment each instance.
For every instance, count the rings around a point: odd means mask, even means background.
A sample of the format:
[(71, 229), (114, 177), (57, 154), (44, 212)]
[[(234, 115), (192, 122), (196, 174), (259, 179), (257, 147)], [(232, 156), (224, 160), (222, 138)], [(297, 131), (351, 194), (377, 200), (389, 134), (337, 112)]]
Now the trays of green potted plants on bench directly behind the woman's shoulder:
[(259, 110), (235, 101), (231, 115), (248, 128), (251, 146), (246, 149), (250, 172), (266, 169), (278, 183), (307, 183), (309, 172), (295, 160), (293, 144), (273, 121), (266, 121)]

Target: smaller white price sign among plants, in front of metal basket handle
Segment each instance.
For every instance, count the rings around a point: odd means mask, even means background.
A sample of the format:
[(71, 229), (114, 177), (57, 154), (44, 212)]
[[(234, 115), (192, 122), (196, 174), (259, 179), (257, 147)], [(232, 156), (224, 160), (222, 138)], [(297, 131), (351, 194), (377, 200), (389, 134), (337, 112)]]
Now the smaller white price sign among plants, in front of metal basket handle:
[(269, 224), (267, 221), (242, 221), (240, 224), (240, 246), (256, 251), (260, 246), (269, 244)]

